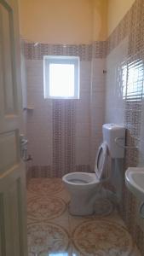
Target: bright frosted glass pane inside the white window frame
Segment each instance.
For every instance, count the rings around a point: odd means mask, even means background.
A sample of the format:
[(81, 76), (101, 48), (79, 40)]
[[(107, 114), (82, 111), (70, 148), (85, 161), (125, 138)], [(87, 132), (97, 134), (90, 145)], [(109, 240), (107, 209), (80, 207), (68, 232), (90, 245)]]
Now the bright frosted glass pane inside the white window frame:
[(49, 96), (74, 96), (73, 64), (49, 64)]

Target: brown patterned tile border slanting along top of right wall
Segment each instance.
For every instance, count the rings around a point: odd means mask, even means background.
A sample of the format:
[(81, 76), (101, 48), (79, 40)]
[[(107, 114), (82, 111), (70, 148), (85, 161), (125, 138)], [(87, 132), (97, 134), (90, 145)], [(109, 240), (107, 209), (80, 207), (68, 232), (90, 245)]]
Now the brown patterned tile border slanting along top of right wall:
[(130, 10), (124, 15), (112, 34), (107, 38), (107, 55), (120, 42), (129, 36), (128, 55), (133, 56), (144, 47), (144, 2), (135, 0)]

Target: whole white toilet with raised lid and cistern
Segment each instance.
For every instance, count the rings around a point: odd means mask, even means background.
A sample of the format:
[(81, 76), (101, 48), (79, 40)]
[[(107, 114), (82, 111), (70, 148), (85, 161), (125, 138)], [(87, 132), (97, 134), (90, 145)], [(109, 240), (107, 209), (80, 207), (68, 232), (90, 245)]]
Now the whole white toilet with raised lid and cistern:
[[(72, 215), (89, 215), (95, 211), (95, 199), (104, 181), (102, 175), (107, 164), (107, 155), (112, 159), (124, 158), (124, 126), (102, 125), (103, 143), (98, 149), (95, 159), (95, 173), (71, 172), (62, 177), (70, 195), (69, 211)], [(116, 138), (121, 140), (118, 147)]]

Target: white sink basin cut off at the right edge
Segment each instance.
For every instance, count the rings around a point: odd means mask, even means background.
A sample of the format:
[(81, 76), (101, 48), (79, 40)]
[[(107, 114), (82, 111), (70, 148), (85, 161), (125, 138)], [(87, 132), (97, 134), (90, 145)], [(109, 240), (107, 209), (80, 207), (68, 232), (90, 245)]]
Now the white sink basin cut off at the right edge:
[(136, 197), (144, 201), (144, 168), (128, 168), (125, 172), (125, 183)]

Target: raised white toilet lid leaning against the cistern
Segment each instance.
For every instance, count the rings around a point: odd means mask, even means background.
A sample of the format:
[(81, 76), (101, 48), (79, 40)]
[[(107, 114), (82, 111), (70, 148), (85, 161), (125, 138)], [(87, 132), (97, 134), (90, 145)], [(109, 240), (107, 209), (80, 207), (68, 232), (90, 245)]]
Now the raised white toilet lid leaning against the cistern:
[(95, 159), (95, 173), (96, 176), (101, 179), (107, 163), (107, 143), (102, 143), (98, 148), (98, 152)]

